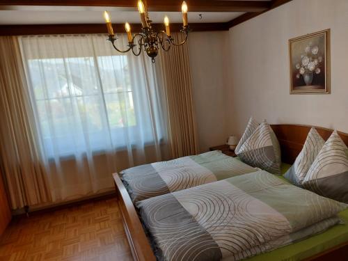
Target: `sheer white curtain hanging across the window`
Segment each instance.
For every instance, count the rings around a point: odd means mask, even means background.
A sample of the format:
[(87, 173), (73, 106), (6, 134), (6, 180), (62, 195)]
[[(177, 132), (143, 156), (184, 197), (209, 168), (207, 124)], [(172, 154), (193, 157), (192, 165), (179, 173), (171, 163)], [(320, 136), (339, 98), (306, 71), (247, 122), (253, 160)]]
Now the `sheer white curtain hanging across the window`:
[(116, 52), (106, 35), (19, 42), (54, 201), (110, 190), (111, 173), (168, 157), (166, 98), (150, 58)]

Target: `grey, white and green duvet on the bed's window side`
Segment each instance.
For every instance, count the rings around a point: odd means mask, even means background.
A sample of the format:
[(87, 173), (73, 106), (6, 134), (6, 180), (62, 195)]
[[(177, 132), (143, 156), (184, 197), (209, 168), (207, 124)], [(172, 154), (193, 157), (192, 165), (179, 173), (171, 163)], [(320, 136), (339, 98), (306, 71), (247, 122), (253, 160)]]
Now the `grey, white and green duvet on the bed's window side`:
[(120, 172), (134, 202), (258, 171), (220, 151), (161, 161)]

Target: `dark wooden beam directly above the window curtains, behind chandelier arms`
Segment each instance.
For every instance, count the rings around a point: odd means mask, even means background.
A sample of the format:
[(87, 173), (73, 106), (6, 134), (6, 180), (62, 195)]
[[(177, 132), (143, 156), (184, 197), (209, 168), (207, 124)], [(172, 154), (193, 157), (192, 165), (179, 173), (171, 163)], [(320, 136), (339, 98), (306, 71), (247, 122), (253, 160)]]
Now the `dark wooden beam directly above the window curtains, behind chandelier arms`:
[[(156, 31), (164, 30), (163, 24), (152, 24)], [(171, 31), (178, 32), (182, 24), (171, 24)], [(228, 31), (227, 23), (190, 24), (192, 31)], [(132, 31), (141, 30), (141, 24), (132, 24)], [(125, 33), (125, 24), (113, 24), (115, 33)], [(107, 33), (105, 24), (19, 24), (0, 25), (0, 35), (51, 35)]]

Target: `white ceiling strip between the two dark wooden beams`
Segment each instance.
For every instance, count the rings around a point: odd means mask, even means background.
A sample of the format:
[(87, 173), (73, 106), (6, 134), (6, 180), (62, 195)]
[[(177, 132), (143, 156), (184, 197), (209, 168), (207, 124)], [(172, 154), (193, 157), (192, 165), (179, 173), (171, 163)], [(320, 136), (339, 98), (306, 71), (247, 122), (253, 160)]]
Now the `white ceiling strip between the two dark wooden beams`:
[[(236, 17), (239, 17), (240, 15), (243, 15), (246, 12), (243, 12), (242, 10), (238, 10), (235, 12), (230, 12), (228, 9), (225, 9), (224, 7), (217, 7), (219, 8), (219, 12), (215, 12), (215, 10), (218, 10), (217, 8), (214, 8), (214, 3), (217, 2), (223, 2), (223, 1), (215, 1), (210, 0), (210, 6), (209, 7), (202, 7), (200, 11), (200, 3), (204, 3), (204, 1), (193, 1), (188, 0), (188, 6), (189, 6), (189, 22), (190, 23), (212, 23), (212, 22), (229, 22), (232, 19), (235, 19)], [(262, 1), (269, 1), (271, 0), (226, 0), (225, 3), (229, 4), (232, 2), (238, 3), (246, 3), (244, 5), (244, 9), (248, 9), (249, 3), (250, 6), (253, 6), (258, 3), (261, 3)], [(109, 10), (111, 13), (111, 21), (113, 23), (138, 23), (140, 22), (139, 13), (136, 10), (136, 6), (133, 7), (133, 3), (131, 0), (127, 2), (127, 8), (125, 6), (120, 7), (116, 6), (118, 2), (115, 0), (114, 2), (111, 1), (111, 3), (116, 3), (115, 6), (108, 7), (108, 6), (97, 6), (98, 3), (102, 3), (103, 1), (95, 1), (95, 6), (68, 6), (65, 5), (62, 1), (56, 1), (57, 6), (54, 4), (53, 1), (50, 5), (45, 6), (46, 3), (49, 2), (47, 0), (46, 2), (40, 2), (33, 0), (28, 1), (26, 5), (19, 6), (19, 5), (12, 5), (12, 3), (15, 1), (8, 1), (8, 5), (0, 5), (0, 24), (2, 25), (10, 25), (10, 24), (102, 24), (104, 22), (104, 19), (102, 17), (102, 12), (104, 10)], [(23, 3), (25, 1), (19, 1), (20, 3)], [(37, 2), (38, 5), (31, 6), (31, 3)], [(61, 3), (63, 4), (61, 4)], [(150, 1), (148, 1), (150, 2)], [(180, 10), (180, 3), (181, 0), (176, 1), (157, 1), (159, 4), (157, 4), (157, 9), (161, 9), (158, 11), (150, 11), (150, 19), (152, 19), (155, 23), (162, 23), (164, 19), (164, 15), (168, 15), (169, 19), (173, 23), (181, 23), (182, 22), (182, 14), (180, 12), (172, 12), (168, 10), (172, 10), (173, 6), (175, 6), (175, 10)], [(173, 3), (171, 4), (171, 9), (166, 9), (167, 3)], [(205, 1), (207, 2), (207, 1)], [(209, 1), (208, 1), (209, 2)], [(65, 0), (65, 3), (68, 3)], [(73, 4), (74, 1), (71, 1)], [(107, 2), (105, 2), (107, 3)], [(129, 4), (130, 3), (130, 4)], [(190, 6), (191, 3), (191, 6)], [(33, 3), (35, 4), (35, 3)], [(223, 3), (224, 4), (224, 3)], [(164, 10), (162, 6), (164, 6)], [(216, 4), (218, 6), (218, 4)], [(246, 6), (246, 8), (245, 8)], [(151, 3), (149, 4), (149, 10), (151, 8)], [(193, 12), (190, 12), (193, 10)], [(241, 9), (241, 8), (239, 8)], [(199, 15), (202, 15), (202, 18), (200, 19)]]

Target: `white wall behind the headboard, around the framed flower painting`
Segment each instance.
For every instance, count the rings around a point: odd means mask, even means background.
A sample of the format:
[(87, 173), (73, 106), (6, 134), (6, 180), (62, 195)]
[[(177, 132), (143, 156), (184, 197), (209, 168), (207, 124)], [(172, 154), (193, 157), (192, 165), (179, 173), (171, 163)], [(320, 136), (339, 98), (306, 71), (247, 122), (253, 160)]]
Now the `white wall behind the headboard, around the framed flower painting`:
[[(323, 29), (331, 29), (331, 94), (290, 95), (288, 40)], [(228, 52), (228, 131), (242, 134), (254, 116), (348, 132), (347, 0), (286, 3), (230, 29)]]

